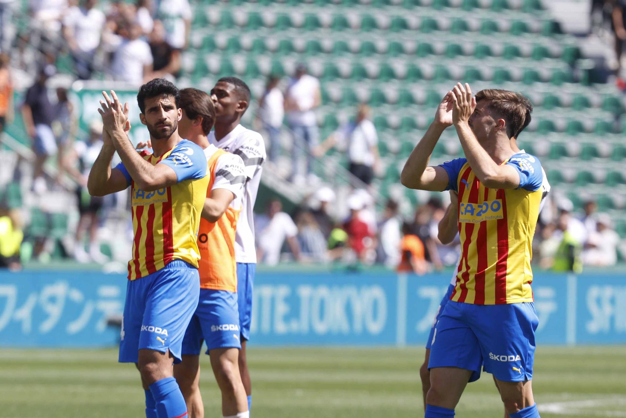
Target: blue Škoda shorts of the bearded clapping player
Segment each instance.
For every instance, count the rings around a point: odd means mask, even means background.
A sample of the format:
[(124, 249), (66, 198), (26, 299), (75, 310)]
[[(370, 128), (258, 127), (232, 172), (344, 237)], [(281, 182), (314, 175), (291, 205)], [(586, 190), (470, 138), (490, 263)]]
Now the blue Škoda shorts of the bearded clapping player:
[(136, 363), (138, 350), (150, 349), (170, 350), (174, 363), (180, 363), (183, 336), (198, 307), (199, 293), (198, 269), (183, 260), (128, 280), (118, 361)]

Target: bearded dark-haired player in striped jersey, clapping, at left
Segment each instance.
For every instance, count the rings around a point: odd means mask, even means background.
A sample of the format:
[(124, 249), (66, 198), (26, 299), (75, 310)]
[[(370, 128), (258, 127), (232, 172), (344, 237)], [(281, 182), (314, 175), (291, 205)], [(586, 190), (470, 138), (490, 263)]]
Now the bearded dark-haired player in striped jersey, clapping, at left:
[[(104, 145), (91, 168), (88, 189), (104, 196), (131, 187), (133, 258), (121, 328), (120, 362), (133, 362), (141, 374), (146, 417), (187, 415), (172, 375), (181, 360), (187, 325), (198, 306), (200, 277), (196, 234), (208, 181), (202, 148), (178, 135), (182, 113), (178, 89), (165, 79), (143, 84), (137, 94), (141, 123), (154, 153), (138, 153), (126, 136), (128, 103), (103, 92), (98, 109)], [(121, 163), (111, 169), (113, 153)]]

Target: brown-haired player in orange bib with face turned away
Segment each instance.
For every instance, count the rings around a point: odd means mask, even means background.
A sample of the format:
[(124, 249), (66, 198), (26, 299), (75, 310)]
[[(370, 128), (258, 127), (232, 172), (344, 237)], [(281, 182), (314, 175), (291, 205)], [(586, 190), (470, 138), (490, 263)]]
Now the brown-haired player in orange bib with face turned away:
[(222, 414), (249, 417), (248, 401), (239, 374), (239, 310), (235, 228), (244, 193), (245, 166), (240, 156), (219, 150), (207, 135), (215, 122), (210, 96), (195, 88), (180, 91), (182, 119), (178, 131), (204, 150), (210, 181), (202, 210), (200, 249), (200, 303), (183, 339), (183, 361), (174, 366), (174, 377), (187, 401), (190, 418), (203, 418), (200, 395), (200, 349), (207, 342), (211, 367), (222, 390)]

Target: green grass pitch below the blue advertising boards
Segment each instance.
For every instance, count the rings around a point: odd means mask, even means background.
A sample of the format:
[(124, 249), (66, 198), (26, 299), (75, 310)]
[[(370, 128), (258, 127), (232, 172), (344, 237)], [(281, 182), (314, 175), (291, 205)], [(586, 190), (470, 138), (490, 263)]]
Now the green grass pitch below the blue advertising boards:
[[(117, 351), (0, 350), (3, 418), (141, 417), (143, 390)], [(249, 348), (254, 418), (423, 416), (421, 349)], [(205, 416), (220, 395), (203, 359)], [(626, 347), (540, 347), (535, 399), (541, 417), (626, 417)], [(469, 384), (458, 417), (501, 418), (491, 375)]]

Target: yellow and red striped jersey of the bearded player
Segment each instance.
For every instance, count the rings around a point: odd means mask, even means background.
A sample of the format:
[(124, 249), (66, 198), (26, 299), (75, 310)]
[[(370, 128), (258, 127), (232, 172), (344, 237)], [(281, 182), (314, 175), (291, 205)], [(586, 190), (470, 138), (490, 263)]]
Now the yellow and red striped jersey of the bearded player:
[(152, 165), (160, 163), (172, 168), (178, 183), (143, 191), (135, 186), (123, 163), (116, 166), (131, 186), (135, 238), (128, 278), (135, 280), (154, 273), (175, 259), (198, 267), (200, 253), (196, 240), (210, 180), (202, 148), (182, 140), (162, 156), (156, 157), (148, 151), (140, 151), (140, 155)]

